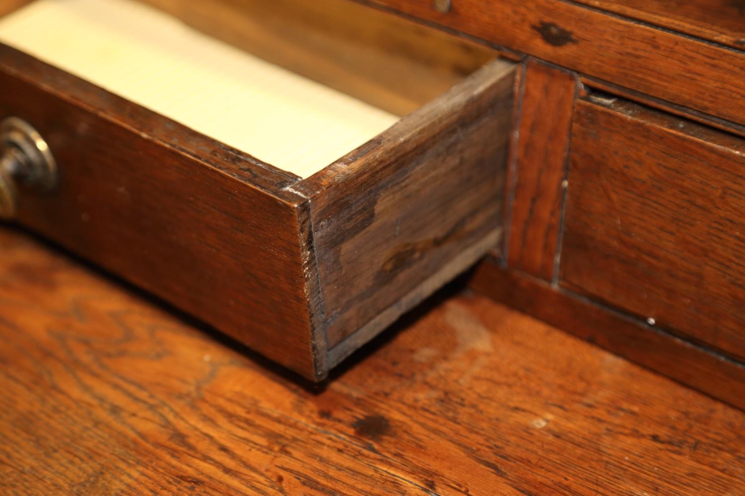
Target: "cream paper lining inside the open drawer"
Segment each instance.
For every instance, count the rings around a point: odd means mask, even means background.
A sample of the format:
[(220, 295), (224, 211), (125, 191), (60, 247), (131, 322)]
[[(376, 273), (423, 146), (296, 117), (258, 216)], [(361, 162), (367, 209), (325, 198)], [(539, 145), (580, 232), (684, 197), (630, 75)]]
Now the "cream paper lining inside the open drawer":
[(302, 178), (399, 120), (133, 0), (37, 0), (0, 42)]

